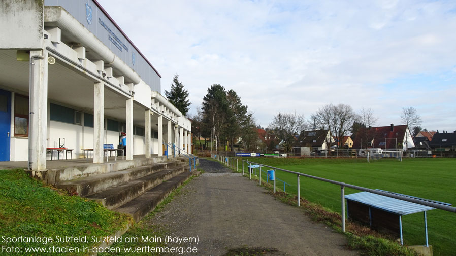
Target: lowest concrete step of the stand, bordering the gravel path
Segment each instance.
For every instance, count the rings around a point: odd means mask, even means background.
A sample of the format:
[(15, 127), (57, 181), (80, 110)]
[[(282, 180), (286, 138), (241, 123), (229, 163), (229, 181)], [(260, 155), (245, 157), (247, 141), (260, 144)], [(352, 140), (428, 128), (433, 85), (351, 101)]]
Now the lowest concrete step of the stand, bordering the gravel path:
[(184, 172), (166, 182), (153, 187), (141, 196), (129, 201), (128, 203), (115, 209), (117, 212), (127, 213), (133, 216), (136, 222), (139, 222), (144, 216), (151, 212), (166, 196), (174, 189), (179, 187), (190, 176), (198, 175), (199, 171)]

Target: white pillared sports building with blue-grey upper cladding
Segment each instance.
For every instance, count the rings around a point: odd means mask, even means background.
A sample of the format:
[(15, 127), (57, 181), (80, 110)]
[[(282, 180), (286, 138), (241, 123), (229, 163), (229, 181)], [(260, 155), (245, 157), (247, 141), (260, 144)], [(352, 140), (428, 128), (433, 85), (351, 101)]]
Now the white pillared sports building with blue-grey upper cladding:
[(127, 160), (162, 156), (164, 144), (191, 148), (189, 120), (99, 3), (40, 2), (0, 2), (0, 161), (45, 169), (47, 148), (64, 138), (73, 158), (93, 149), (103, 163), (103, 145), (117, 147), (122, 131)]

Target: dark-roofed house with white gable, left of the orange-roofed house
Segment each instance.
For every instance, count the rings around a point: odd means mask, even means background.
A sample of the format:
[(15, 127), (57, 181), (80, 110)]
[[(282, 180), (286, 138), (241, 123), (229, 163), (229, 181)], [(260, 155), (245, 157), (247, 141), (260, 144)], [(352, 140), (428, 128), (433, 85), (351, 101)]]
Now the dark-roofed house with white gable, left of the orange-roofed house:
[(310, 155), (311, 152), (327, 150), (336, 140), (329, 130), (303, 131), (298, 137), (293, 151), (296, 155)]

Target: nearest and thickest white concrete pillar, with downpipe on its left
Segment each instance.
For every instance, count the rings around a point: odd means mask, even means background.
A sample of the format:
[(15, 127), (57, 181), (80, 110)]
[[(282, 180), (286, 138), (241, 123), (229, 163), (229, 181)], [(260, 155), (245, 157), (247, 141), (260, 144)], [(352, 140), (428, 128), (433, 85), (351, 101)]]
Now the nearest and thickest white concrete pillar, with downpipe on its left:
[(30, 51), (28, 169), (46, 169), (48, 52)]

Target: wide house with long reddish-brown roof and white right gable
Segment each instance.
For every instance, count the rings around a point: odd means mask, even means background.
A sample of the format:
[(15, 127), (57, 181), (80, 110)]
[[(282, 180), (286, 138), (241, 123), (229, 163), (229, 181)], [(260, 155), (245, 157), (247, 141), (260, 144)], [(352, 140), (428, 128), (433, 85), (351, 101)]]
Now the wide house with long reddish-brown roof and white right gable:
[(407, 125), (395, 126), (394, 124), (360, 129), (353, 143), (355, 149), (380, 148), (406, 151), (407, 148), (414, 147), (415, 143)]

